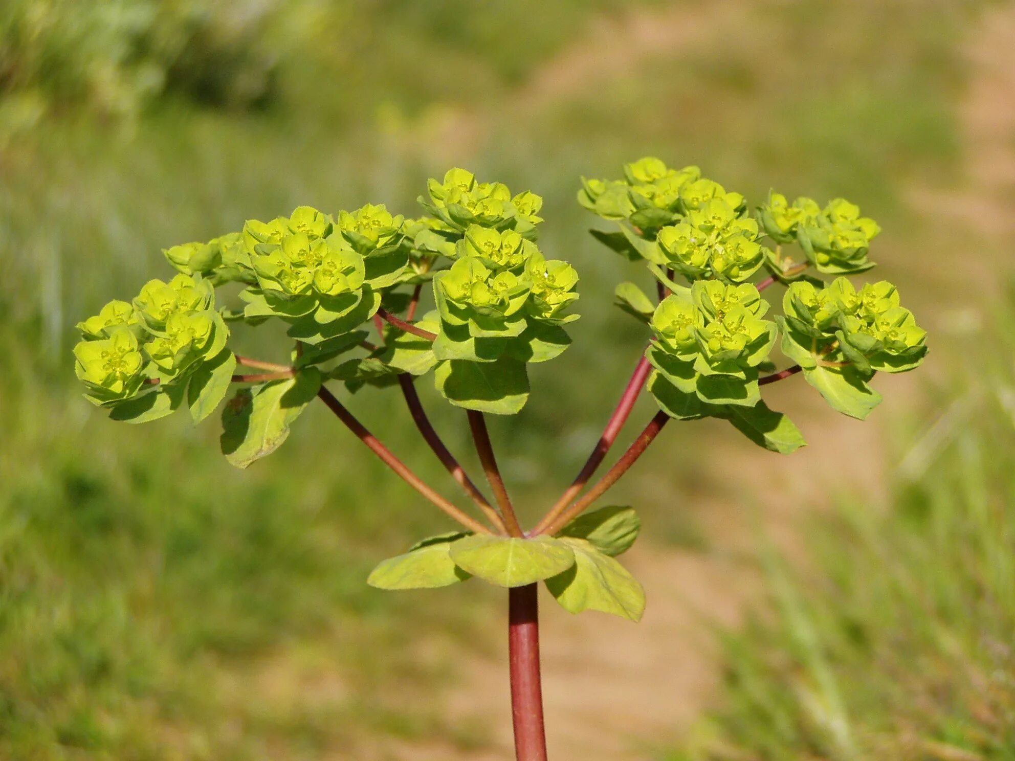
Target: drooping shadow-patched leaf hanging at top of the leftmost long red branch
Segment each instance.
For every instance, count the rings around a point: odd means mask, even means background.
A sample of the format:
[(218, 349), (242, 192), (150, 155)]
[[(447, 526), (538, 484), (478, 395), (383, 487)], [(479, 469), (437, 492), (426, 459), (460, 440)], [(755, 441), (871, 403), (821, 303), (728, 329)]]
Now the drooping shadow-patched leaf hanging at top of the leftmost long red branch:
[(294, 377), (241, 389), (222, 410), (222, 454), (236, 468), (270, 455), (321, 388), (321, 372), (307, 367)]

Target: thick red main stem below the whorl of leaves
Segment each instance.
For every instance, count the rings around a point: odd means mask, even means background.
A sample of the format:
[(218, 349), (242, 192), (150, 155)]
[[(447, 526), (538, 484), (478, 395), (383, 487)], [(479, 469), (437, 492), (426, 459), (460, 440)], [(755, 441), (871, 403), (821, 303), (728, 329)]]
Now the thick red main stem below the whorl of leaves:
[(511, 708), (518, 761), (546, 761), (543, 688), (539, 673), (537, 585), (507, 591), (507, 650), (511, 659)]

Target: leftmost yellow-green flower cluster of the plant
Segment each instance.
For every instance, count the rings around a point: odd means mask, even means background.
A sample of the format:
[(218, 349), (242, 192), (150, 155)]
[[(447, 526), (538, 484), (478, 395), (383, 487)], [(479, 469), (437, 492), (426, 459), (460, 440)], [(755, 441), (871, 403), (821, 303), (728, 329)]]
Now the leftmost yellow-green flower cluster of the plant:
[(225, 349), (229, 332), (214, 310), (214, 291), (200, 276), (150, 280), (132, 303), (111, 301), (78, 324), (75, 371), (93, 403), (112, 407), (186, 383)]

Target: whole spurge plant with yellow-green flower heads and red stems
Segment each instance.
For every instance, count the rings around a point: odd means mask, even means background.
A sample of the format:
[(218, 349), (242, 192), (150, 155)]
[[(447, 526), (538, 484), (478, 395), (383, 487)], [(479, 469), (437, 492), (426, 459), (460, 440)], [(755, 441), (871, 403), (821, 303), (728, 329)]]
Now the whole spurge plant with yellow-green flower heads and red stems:
[[(130, 301), (111, 301), (78, 325), (77, 376), (114, 420), (140, 423), (186, 407), (208, 417), (231, 386), (221, 448), (239, 468), (273, 452), (316, 398), (375, 455), (459, 526), (382, 561), (367, 582), (384, 590), (446, 586), (473, 576), (509, 590), (514, 729), (519, 759), (546, 758), (539, 675), (537, 582), (570, 613), (596, 610), (637, 621), (640, 584), (616, 557), (633, 544), (630, 507), (586, 512), (671, 420), (716, 417), (754, 443), (789, 454), (797, 426), (767, 407), (762, 387), (803, 375), (835, 410), (865, 418), (881, 401), (878, 371), (921, 363), (925, 333), (895, 287), (865, 272), (878, 225), (842, 199), (824, 207), (770, 193), (750, 213), (739, 193), (669, 168), (658, 158), (624, 166), (622, 180), (583, 181), (579, 202), (612, 229), (593, 235), (657, 281), (653, 299), (630, 282), (616, 302), (646, 326), (645, 350), (585, 467), (532, 528), (519, 522), (497, 469), (485, 415), (520, 412), (527, 365), (557, 357), (578, 320), (579, 276), (536, 244), (542, 199), (480, 183), (465, 169), (430, 180), (424, 215), (367, 204), (331, 215), (300, 207), (250, 220), (240, 232), (164, 252), (178, 270)], [(787, 248), (798, 245), (796, 258)], [(802, 255), (802, 256), (801, 256)], [(830, 280), (830, 282), (828, 282)], [(232, 285), (239, 300), (216, 302)], [(762, 291), (785, 286), (782, 315)], [(434, 308), (417, 318), (424, 286)], [(229, 325), (286, 324), (286, 363), (235, 354)], [(370, 336), (370, 332), (374, 336)], [(772, 362), (779, 346), (786, 362)], [(253, 372), (238, 373), (240, 366)], [(427, 418), (416, 382), (430, 375), (466, 410), (493, 495), (488, 500)], [(420, 480), (332, 392), (398, 387), (423, 440), (477, 509), (469, 514)], [(598, 481), (641, 389), (659, 412)], [(588, 487), (588, 488), (586, 488)], [(583, 493), (584, 492), (584, 493)], [(584, 513), (584, 514), (583, 514)]]

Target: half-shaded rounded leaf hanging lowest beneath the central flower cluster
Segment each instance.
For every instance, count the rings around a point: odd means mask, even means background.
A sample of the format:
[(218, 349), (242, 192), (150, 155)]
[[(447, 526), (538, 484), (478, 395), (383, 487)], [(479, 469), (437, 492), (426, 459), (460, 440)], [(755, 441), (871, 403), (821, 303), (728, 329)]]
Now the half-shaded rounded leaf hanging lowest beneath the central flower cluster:
[(510, 357), (494, 362), (451, 359), (437, 365), (433, 382), (456, 407), (514, 415), (529, 400), (525, 363)]

